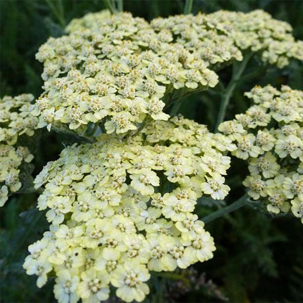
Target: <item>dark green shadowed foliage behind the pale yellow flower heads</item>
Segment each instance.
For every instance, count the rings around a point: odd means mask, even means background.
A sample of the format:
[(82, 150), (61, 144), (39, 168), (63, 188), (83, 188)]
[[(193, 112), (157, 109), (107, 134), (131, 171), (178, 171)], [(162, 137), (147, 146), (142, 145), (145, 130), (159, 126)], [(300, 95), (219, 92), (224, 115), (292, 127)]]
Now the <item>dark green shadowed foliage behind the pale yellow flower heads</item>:
[[(157, 16), (180, 14), (184, 1), (124, 1), (124, 10), (151, 20)], [(0, 1), (1, 8), (1, 97), (42, 92), (42, 64), (35, 60), (38, 47), (49, 36), (58, 37), (73, 18), (105, 8), (103, 1)], [(192, 12), (218, 9), (249, 12), (264, 9), (274, 18), (289, 22), (294, 36), (303, 40), (302, 1), (201, 1), (193, 2)], [(220, 72), (228, 82), (231, 68)], [(264, 70), (258, 60), (251, 60), (228, 108), (226, 119), (243, 112), (249, 103), (243, 92), (256, 84), (303, 88), (303, 64), (292, 62), (279, 70)], [(199, 123), (214, 127), (219, 99), (211, 92), (193, 95), (183, 101), (180, 112)], [(47, 161), (70, 142), (64, 135), (42, 131), (41, 144), (33, 143), (37, 174)], [(227, 183), (232, 188), (226, 201), (211, 199), (199, 204), (196, 213), (203, 217), (228, 204), (243, 192), (241, 181), (247, 168), (233, 161)], [(28, 244), (47, 230), (45, 213), (35, 208), (37, 195), (11, 196), (1, 209), (1, 302), (53, 302), (53, 278), (38, 289), (34, 276), (25, 275), (22, 263)], [(260, 212), (258, 205), (246, 206), (212, 221), (206, 229), (215, 238), (215, 257), (189, 270), (153, 275), (151, 294), (146, 302), (302, 302), (303, 236), (300, 220), (288, 216), (272, 217)], [(117, 299), (111, 296), (111, 301)]]

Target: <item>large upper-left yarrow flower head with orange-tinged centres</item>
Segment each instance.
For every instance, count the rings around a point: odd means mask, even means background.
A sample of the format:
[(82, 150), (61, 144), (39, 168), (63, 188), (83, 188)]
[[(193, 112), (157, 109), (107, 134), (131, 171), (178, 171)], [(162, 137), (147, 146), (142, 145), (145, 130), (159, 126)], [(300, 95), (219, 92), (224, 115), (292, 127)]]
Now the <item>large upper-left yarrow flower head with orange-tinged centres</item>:
[(137, 130), (147, 116), (167, 120), (165, 94), (218, 82), (198, 55), (173, 43), (172, 34), (129, 13), (50, 38), (36, 58), (44, 63), (45, 93), (36, 101), (41, 126), (67, 124), (79, 133), (90, 122), (120, 134)]

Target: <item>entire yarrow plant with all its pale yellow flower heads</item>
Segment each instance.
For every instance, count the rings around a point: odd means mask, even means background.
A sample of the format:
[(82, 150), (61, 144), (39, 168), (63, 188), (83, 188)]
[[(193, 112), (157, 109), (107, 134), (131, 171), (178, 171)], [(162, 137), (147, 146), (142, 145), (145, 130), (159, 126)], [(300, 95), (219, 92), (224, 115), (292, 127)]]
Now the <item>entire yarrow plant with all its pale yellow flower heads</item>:
[[(215, 253), (201, 197), (224, 200), (231, 157), (247, 163), (248, 188), (235, 203), (258, 200), (303, 223), (303, 92), (256, 86), (253, 105), (231, 121), (225, 112), (249, 59), (283, 68), (303, 60), (303, 42), (268, 13), (218, 11), (146, 22), (130, 13), (90, 13), (49, 38), (42, 95), (0, 101), (0, 205), (22, 192), (19, 166), (33, 159), (19, 137), (39, 128), (78, 141), (35, 177), (49, 231), (28, 247), (23, 268), (37, 286), (55, 277), (59, 302), (143, 301), (151, 272), (175, 271)], [(234, 65), (210, 132), (178, 115), (181, 99), (216, 89)], [(185, 101), (186, 102), (186, 101)], [(168, 108), (171, 109), (168, 112)], [(201, 200), (203, 201), (203, 200)]]

